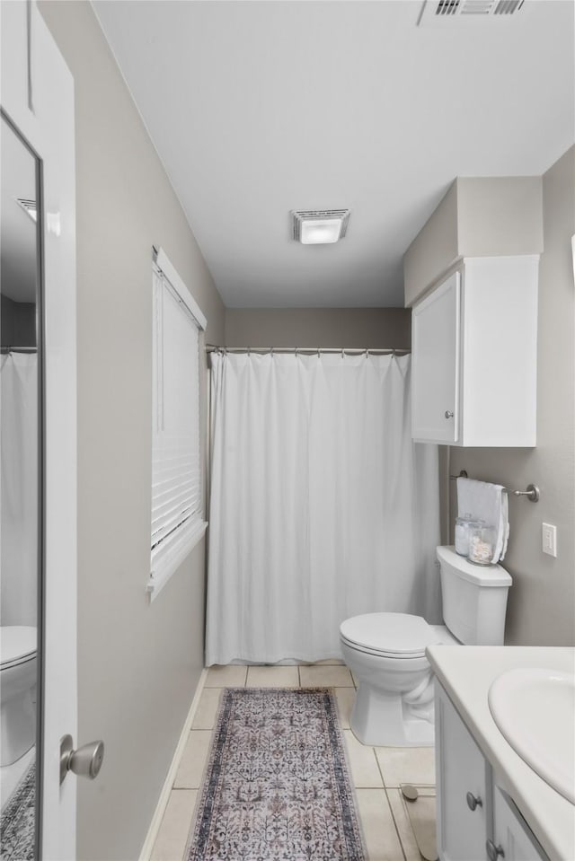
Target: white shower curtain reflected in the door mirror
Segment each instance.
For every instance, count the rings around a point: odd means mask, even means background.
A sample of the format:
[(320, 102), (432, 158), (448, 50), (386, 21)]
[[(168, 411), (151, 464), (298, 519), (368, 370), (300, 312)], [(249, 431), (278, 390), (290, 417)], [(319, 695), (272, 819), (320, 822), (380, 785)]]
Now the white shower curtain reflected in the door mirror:
[(38, 356), (0, 356), (0, 622), (36, 625)]

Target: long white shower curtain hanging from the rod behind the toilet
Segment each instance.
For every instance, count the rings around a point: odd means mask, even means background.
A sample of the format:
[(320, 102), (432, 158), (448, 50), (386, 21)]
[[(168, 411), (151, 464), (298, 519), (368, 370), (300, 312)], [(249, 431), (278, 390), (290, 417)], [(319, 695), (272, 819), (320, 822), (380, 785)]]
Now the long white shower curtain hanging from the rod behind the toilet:
[(339, 657), (358, 613), (440, 620), (438, 449), (411, 442), (410, 359), (212, 354), (208, 665)]

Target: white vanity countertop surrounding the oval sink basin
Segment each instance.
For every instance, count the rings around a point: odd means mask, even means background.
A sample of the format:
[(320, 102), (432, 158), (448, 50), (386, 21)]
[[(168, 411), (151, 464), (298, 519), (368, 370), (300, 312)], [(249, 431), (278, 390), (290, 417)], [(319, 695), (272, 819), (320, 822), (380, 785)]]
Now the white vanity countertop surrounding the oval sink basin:
[(429, 646), (429, 663), (464, 719), (498, 786), (513, 799), (551, 861), (575, 861), (575, 806), (529, 768), (491, 717), (491, 682), (518, 667), (575, 672), (575, 649), (547, 646)]

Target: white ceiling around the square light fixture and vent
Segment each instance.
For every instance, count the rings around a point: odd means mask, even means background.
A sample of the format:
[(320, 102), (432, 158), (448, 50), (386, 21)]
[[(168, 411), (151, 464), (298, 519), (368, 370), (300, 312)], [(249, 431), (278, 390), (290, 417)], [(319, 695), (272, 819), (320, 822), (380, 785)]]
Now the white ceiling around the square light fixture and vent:
[[(93, 5), (230, 307), (402, 305), (456, 176), (539, 175), (573, 143), (571, 0), (432, 28), (420, 0)], [(291, 239), (291, 209), (341, 207), (342, 242)]]

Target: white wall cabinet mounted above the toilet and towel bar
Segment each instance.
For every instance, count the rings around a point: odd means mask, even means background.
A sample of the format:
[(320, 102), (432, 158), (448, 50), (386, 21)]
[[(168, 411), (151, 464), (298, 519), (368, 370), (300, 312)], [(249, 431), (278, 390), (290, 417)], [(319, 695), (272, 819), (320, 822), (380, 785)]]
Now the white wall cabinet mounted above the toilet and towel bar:
[(464, 259), (413, 307), (414, 440), (535, 445), (538, 263)]

